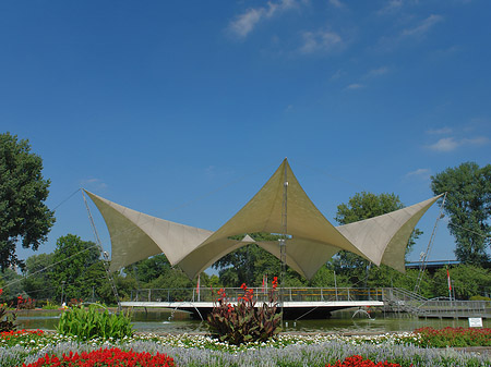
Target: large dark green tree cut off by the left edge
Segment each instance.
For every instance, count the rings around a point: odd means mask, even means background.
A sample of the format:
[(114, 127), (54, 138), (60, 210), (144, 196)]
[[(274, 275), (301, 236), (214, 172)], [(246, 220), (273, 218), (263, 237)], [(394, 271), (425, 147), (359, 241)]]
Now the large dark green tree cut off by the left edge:
[(17, 243), (37, 249), (47, 240), (55, 213), (44, 201), (49, 180), (44, 180), (43, 160), (31, 152), (27, 140), (0, 134), (0, 267), (24, 266), (15, 255)]

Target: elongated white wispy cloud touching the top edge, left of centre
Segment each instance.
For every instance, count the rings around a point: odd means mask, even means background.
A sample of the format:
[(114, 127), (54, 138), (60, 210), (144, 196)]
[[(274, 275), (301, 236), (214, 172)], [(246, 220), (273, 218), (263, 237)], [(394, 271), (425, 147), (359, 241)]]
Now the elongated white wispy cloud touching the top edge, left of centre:
[(230, 22), (228, 27), (235, 36), (246, 38), (260, 22), (271, 19), (283, 11), (294, 9), (296, 5), (297, 2), (295, 0), (268, 1), (266, 7), (248, 9)]

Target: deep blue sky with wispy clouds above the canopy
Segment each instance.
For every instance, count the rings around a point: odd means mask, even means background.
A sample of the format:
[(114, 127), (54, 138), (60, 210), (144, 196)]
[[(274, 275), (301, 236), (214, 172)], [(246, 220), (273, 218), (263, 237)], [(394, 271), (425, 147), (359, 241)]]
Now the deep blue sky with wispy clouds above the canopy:
[[(81, 194), (64, 201), (79, 187), (216, 230), (285, 157), (328, 220), (361, 191), (431, 197), (432, 174), (490, 163), (490, 13), (488, 0), (2, 1), (1, 131), (29, 139), (48, 205), (63, 203), (38, 253), (94, 238)], [(454, 258), (444, 224), (430, 259)]]

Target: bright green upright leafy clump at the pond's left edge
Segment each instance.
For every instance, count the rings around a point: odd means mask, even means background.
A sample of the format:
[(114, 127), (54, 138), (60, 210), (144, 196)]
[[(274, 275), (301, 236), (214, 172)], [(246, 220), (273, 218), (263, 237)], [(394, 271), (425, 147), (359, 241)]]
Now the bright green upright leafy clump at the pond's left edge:
[(63, 335), (74, 337), (80, 341), (98, 337), (101, 339), (122, 339), (133, 334), (133, 326), (128, 315), (109, 315), (100, 305), (73, 307), (65, 310), (58, 323), (57, 331)]

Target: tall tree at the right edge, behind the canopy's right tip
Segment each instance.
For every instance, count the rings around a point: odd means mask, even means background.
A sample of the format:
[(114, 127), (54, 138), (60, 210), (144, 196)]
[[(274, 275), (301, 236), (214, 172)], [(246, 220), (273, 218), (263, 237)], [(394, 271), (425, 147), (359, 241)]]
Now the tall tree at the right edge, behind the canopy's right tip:
[(479, 168), (475, 162), (431, 176), (435, 194), (447, 193), (444, 210), (448, 230), (456, 240), (455, 256), (465, 264), (482, 265), (491, 238), (491, 164)]

